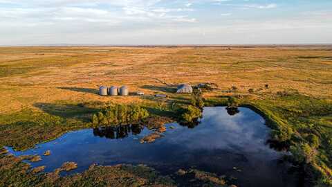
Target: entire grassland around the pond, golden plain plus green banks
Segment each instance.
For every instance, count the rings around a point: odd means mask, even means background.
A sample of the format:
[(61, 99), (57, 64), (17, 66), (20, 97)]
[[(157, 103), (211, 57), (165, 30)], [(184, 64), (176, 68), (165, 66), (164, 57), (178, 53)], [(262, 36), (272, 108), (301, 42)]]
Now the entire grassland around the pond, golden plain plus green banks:
[[(313, 184), (332, 185), (329, 45), (1, 47), (0, 148), (25, 150), (70, 130), (91, 127), (91, 114), (108, 103), (138, 103), (153, 115), (172, 117), (176, 115), (172, 103), (187, 103), (190, 98), (174, 94), (175, 85), (183, 82), (218, 85), (203, 94), (205, 105), (224, 105), (226, 96), (237, 96), (241, 105), (255, 107), (282, 134), (279, 141), (298, 146), (300, 154), (315, 153), (306, 161), (306, 168), (311, 168), (306, 170), (315, 176)], [(146, 96), (102, 97), (98, 96), (100, 85), (127, 85), (131, 92), (144, 91)], [(154, 98), (154, 94), (169, 97)], [(317, 148), (310, 147), (309, 134), (318, 137)], [(301, 150), (302, 145), (309, 148)], [(9, 155), (1, 156), (0, 163), (0, 186), (6, 186), (4, 181), (14, 186), (75, 186), (84, 184), (84, 179), (89, 181), (86, 186), (102, 182), (87, 173), (74, 177), (77, 184), (54, 173), (36, 177), (25, 163)], [(172, 184), (137, 172), (149, 169), (131, 168), (129, 172), (128, 168), (111, 168), (118, 178), (109, 178), (118, 180), (123, 172), (136, 176), (132, 177), (136, 181), (126, 181), (128, 186)], [(107, 175), (104, 170), (94, 167), (90, 171)]]

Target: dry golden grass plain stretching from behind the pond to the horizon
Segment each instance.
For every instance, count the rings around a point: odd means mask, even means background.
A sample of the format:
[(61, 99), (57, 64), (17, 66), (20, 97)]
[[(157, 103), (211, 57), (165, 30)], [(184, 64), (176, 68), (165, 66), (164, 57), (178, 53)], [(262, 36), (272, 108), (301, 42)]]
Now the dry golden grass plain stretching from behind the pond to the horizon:
[(3, 47), (0, 72), (5, 73), (0, 74), (0, 114), (57, 100), (142, 101), (137, 96), (112, 98), (95, 93), (100, 85), (122, 84), (128, 85), (130, 91), (146, 94), (165, 92), (157, 90), (165, 87), (158, 80), (170, 84), (218, 84), (221, 90), (209, 96), (221, 94), (232, 86), (248, 93), (250, 88), (269, 84), (270, 89), (259, 93), (297, 89), (304, 95), (331, 98), (331, 50), (331, 46), (232, 47), (231, 50), (190, 46)]

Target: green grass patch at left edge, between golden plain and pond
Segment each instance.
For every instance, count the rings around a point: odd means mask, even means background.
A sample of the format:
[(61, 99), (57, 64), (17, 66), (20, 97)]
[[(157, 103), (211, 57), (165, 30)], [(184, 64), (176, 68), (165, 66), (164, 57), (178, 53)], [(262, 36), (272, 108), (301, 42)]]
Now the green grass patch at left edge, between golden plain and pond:
[[(86, 127), (79, 119), (62, 118), (30, 109), (0, 118), (0, 146), (10, 146), (15, 150), (33, 148), (35, 144), (50, 141), (58, 136)], [(10, 134), (10, 136), (8, 136)]]

